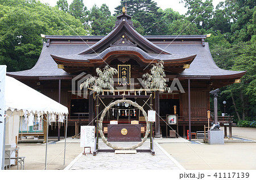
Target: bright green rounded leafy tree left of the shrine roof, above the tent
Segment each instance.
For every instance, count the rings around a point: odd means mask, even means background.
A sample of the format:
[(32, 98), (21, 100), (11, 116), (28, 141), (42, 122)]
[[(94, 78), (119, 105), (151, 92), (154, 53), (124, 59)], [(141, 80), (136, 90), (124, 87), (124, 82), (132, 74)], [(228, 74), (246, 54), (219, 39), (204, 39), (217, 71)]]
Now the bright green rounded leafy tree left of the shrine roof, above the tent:
[[(67, 25), (68, 24), (68, 25)], [(0, 64), (7, 71), (32, 68), (44, 35), (86, 35), (79, 20), (39, 1), (0, 0)]]

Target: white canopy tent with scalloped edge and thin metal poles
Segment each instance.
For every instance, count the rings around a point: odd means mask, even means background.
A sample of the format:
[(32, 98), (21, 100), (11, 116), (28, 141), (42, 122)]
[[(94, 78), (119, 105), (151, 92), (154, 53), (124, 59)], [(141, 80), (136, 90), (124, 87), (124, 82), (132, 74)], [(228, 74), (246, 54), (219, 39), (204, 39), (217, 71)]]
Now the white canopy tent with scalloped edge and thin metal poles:
[[(5, 111), (6, 111), (6, 114), (12, 115), (16, 113), (19, 116), (24, 115), (25, 118), (27, 118), (28, 114), (37, 115), (38, 117), (42, 116), (43, 114), (46, 114), (47, 138), (46, 138), (45, 169), (47, 168), (48, 125), (49, 123), (51, 123), (51, 121), (53, 122), (57, 120), (59, 122), (63, 122), (64, 118), (66, 119), (66, 131), (65, 131), (65, 148), (66, 148), (68, 108), (59, 104), (59, 102), (52, 100), (51, 98), (43, 95), (42, 93), (36, 91), (35, 89), (28, 87), (26, 84), (23, 84), (14, 78), (6, 76)], [(58, 115), (58, 119), (56, 119), (56, 115)], [(64, 149), (64, 164), (65, 164), (65, 149)]]

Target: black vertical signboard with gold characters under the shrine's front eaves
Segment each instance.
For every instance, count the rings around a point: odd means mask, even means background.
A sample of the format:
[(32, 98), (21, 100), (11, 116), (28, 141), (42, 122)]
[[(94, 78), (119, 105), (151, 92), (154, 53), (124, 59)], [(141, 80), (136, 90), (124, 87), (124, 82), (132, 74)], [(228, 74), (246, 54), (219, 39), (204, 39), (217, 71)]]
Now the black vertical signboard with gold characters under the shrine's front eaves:
[(118, 65), (118, 84), (130, 84), (131, 65)]

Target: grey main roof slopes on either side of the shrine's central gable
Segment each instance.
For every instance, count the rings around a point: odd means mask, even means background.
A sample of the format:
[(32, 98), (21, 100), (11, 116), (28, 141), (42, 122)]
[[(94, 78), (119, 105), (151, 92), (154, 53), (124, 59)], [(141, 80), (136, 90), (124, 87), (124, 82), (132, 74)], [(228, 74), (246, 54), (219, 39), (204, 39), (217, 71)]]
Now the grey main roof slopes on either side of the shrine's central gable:
[[(158, 36), (155, 36), (158, 37)], [(187, 55), (197, 54), (194, 61), (191, 63), (190, 68), (185, 69), (180, 76), (223, 76), (223, 75), (238, 75), (245, 71), (228, 71), (218, 68), (212, 59), (210, 54), (208, 43), (205, 42), (205, 46), (200, 43), (195, 44), (156, 44), (159, 48), (165, 49), (167, 52), (175, 54)], [(18, 72), (7, 72), (13, 76), (69, 76), (67, 72), (57, 68), (56, 62), (52, 59), (50, 54), (78, 54), (89, 48), (86, 44), (50, 44), (46, 47), (43, 45), (42, 53), (38, 59), (36, 65), (31, 70), (18, 71)], [(95, 54), (92, 54), (92, 56)], [(154, 57), (154, 54), (149, 53), (148, 55)], [(161, 55), (159, 55), (160, 58)], [(75, 56), (73, 58), (76, 58)], [(155, 58), (155, 57), (154, 57)]]

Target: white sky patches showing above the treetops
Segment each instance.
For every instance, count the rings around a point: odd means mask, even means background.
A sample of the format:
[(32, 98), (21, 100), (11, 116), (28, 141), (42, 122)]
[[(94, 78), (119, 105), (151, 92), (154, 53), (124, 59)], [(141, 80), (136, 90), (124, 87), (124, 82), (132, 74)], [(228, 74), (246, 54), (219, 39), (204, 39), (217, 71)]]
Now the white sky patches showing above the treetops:
[[(56, 6), (57, 0), (40, 0), (42, 3), (49, 3), (50, 6)], [(73, 0), (68, 0), (68, 5), (72, 3)], [(185, 14), (187, 9), (184, 7), (183, 3), (179, 3), (180, 0), (154, 0), (154, 2), (158, 3), (158, 7), (161, 7), (163, 10), (171, 7), (174, 11), (178, 11), (180, 14)], [(213, 0), (213, 6), (224, 0)], [(84, 0), (84, 5), (90, 10), (94, 4), (100, 7), (102, 4), (106, 4), (112, 14), (114, 14), (114, 8), (120, 4), (120, 0)]]

